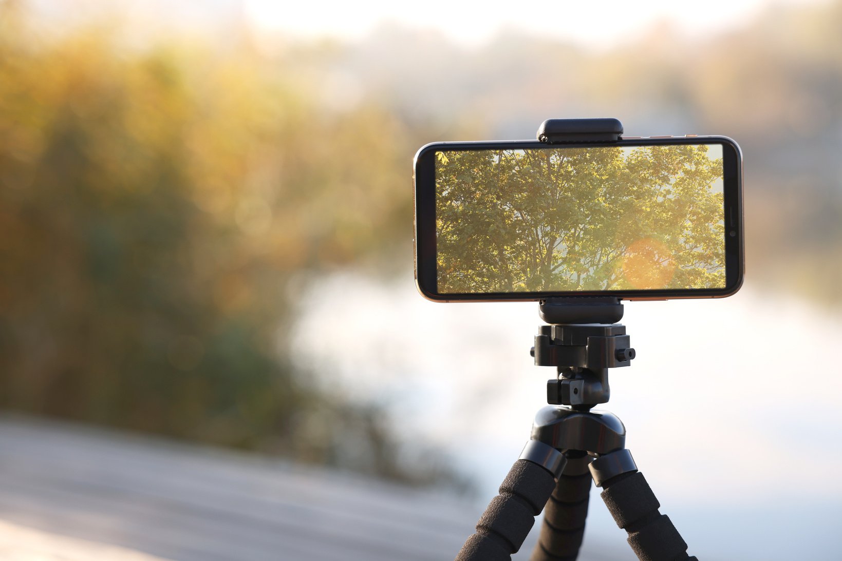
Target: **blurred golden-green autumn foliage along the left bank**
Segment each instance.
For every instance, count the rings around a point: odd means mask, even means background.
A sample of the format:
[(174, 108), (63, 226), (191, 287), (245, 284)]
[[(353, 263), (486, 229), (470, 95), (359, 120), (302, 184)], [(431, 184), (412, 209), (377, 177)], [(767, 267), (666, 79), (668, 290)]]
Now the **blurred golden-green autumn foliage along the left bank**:
[(399, 464), (381, 412), (319, 389), (285, 347), (290, 279), (408, 249), (417, 136), (371, 105), (323, 114), (248, 45), (28, 26), (0, 4), (0, 404), (443, 474), (434, 455)]

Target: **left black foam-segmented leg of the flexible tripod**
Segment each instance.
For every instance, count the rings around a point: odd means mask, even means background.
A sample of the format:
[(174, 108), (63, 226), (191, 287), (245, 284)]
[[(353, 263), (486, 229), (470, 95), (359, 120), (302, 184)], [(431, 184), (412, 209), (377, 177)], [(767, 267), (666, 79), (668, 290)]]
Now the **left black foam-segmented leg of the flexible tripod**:
[(468, 537), (456, 561), (510, 561), (541, 513), (566, 458), (543, 442), (530, 440)]

